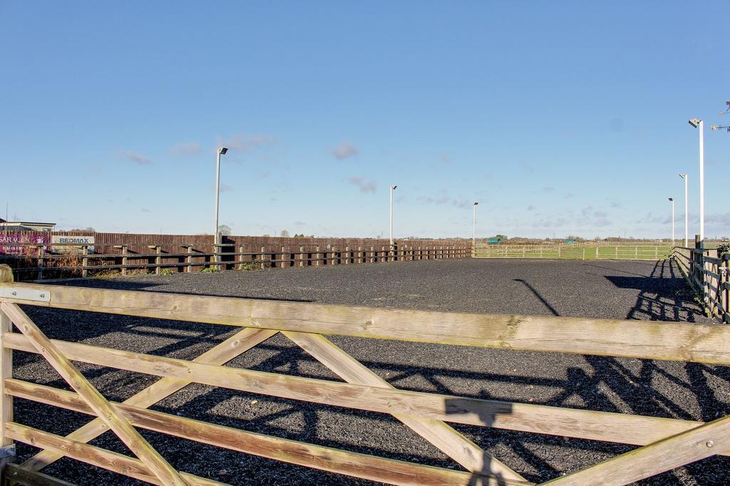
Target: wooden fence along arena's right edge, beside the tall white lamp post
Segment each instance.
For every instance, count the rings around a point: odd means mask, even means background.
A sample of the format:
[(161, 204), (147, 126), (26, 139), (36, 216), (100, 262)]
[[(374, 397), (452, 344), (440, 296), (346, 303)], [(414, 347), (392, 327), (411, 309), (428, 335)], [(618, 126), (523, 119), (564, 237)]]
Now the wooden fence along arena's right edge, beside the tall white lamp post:
[(675, 247), (672, 260), (702, 299), (707, 315), (730, 323), (730, 253), (717, 250)]

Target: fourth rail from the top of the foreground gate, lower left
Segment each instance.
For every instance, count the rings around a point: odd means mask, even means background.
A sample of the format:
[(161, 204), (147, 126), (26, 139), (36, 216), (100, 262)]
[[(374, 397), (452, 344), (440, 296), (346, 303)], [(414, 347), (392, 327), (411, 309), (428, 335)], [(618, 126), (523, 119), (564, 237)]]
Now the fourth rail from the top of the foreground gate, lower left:
[[(101, 449), (100, 447), (83, 444), (82, 442), (72, 441), (65, 437), (57, 436), (53, 433), (39, 431), (36, 428), (21, 425), (19, 423), (10, 422), (5, 424), (5, 433), (16, 441), (31, 444), (34, 447), (42, 447), (43, 449), (52, 449), (66, 457), (80, 460), (83, 463), (98, 466), (100, 468), (114, 471), (124, 476), (133, 477), (147, 481), (153, 485), (163, 485), (163, 483), (150, 471), (145, 463), (136, 458), (112, 452), (110, 450)], [(190, 486), (223, 486), (226, 483), (193, 476), (193, 474), (180, 473), (185, 482), (183, 484)]]

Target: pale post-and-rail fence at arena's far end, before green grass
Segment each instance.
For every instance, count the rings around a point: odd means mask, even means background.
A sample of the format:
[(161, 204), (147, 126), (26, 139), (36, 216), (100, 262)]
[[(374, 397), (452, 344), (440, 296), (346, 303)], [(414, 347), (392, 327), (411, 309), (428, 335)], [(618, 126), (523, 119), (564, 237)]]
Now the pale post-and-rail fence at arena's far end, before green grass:
[(566, 260), (659, 260), (671, 247), (649, 244), (479, 244), (475, 258), (553, 258)]

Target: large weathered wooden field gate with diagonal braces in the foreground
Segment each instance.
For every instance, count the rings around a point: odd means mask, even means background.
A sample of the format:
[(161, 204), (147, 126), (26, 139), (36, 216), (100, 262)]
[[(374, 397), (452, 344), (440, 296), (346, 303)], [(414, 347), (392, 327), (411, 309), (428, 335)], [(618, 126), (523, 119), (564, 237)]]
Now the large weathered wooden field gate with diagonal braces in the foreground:
[[(525, 485), (518, 472), (447, 425), (461, 423), (641, 446), (550, 481), (623, 485), (712, 455), (730, 455), (730, 415), (709, 423), (399, 390), (324, 334), (510, 350), (569, 352), (730, 365), (730, 327), (656, 321), (596, 320), (423, 312), (261, 301), (11, 282), (0, 266), (0, 451), (5, 477), (28, 484), (60, 480), (38, 471), (61, 457), (158, 485), (213, 485), (177, 471), (137, 428), (229, 450), (397, 485)], [(231, 325), (241, 330), (193, 360), (180, 360), (48, 339), (18, 304)], [(13, 331), (12, 325), (19, 332)], [(223, 366), (276, 333), (310, 353), (344, 382)], [(74, 390), (12, 377), (12, 350), (41, 354)], [(108, 401), (72, 363), (80, 361), (161, 379), (123, 403)], [(378, 458), (204, 423), (149, 407), (195, 382), (330, 406), (391, 414), (453, 458), (462, 470)], [(67, 436), (13, 421), (13, 398), (96, 417)], [(88, 444), (113, 431), (137, 457)], [(10, 462), (13, 441), (41, 448)]]

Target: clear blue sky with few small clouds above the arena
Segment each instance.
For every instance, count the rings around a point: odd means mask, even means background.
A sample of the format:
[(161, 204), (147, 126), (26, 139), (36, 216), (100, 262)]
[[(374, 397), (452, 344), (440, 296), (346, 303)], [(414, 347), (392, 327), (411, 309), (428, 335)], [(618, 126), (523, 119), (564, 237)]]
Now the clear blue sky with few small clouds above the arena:
[[(669, 236), (730, 124), (725, 1), (0, 4), (1, 203), (59, 228)], [(707, 128), (708, 236), (730, 134)], [(724, 186), (724, 187), (723, 187)], [(3, 208), (4, 209), (4, 208)], [(2, 211), (4, 213), (4, 211)]]

